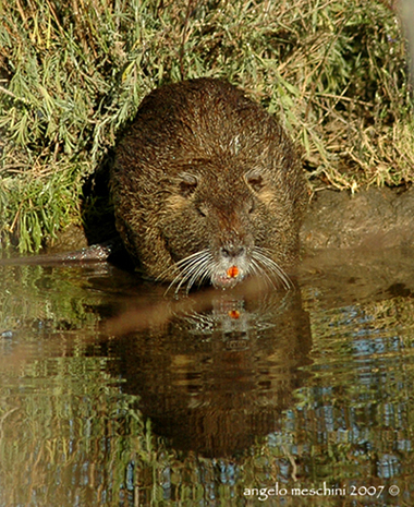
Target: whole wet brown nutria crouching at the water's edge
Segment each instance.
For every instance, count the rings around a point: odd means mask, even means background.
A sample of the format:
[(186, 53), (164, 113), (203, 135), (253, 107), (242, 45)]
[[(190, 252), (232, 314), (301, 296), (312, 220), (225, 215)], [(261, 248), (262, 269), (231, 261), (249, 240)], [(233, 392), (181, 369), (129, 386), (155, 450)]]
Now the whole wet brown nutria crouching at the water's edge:
[(165, 85), (115, 148), (117, 228), (144, 276), (188, 291), (256, 274), (289, 288), (305, 203), (283, 128), (227, 82)]

